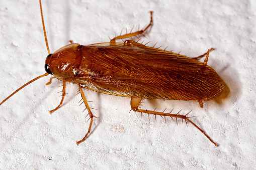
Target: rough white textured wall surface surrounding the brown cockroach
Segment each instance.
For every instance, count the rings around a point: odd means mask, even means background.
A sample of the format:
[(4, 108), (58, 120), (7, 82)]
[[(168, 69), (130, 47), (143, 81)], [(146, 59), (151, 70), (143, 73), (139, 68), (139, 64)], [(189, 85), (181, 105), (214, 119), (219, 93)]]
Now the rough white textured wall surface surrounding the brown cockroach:
[[(220, 103), (144, 100), (143, 108), (196, 116), (191, 123), (130, 112), (130, 99), (85, 90), (96, 119), (78, 106), (77, 86), (50, 76), (22, 89), (0, 106), (0, 169), (253, 169), (255, 132), (255, 1), (43, 1), (50, 51), (69, 40), (81, 45), (109, 42), (122, 29), (154, 25), (144, 42), (189, 57), (209, 48), (208, 65), (230, 89)], [(0, 100), (42, 75), (48, 55), (38, 1), (3, 1), (0, 7)]]

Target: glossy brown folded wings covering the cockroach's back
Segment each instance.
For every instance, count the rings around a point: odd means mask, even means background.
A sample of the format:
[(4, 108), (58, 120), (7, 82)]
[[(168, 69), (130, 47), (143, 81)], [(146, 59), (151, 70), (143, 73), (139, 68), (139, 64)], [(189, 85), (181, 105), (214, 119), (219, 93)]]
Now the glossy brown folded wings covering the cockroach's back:
[(176, 53), (132, 42), (81, 46), (76, 83), (98, 92), (137, 98), (212, 100), (224, 83), (209, 66)]

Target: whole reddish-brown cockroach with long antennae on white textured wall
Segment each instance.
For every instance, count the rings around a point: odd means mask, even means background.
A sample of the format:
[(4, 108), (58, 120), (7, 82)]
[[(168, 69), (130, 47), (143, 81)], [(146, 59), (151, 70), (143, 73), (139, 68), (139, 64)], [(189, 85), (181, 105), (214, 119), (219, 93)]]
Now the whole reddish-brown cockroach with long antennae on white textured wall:
[[(90, 116), (90, 126), (86, 135), (76, 142), (78, 145), (90, 134), (94, 116), (88, 104), (83, 89), (91, 89), (100, 93), (122, 97), (131, 97), (131, 110), (135, 112), (160, 115), (162, 118), (169, 116), (180, 118), (192, 123), (198, 128), (215, 146), (218, 146), (201, 128), (193, 123), (186, 115), (157, 112), (154, 110), (140, 109), (142, 99), (168, 99), (198, 101), (203, 107), (203, 101), (217, 98), (221, 95), (224, 82), (220, 76), (207, 65), (209, 52), (197, 57), (189, 58), (180, 54), (161, 50), (138, 43), (135, 38), (143, 36), (152, 27), (153, 19), (150, 12), (150, 23), (145, 29), (120, 35), (113, 38), (109, 43), (98, 43), (87, 46), (72, 43), (66, 45), (51, 54), (44, 27), (41, 0), (40, 10), (45, 36), (46, 47), (49, 55), (45, 61), (46, 73), (29, 81), (13, 92), (34, 82), (35, 80), (53, 75), (63, 82), (62, 99), (60, 104), (53, 110), (57, 110), (65, 97), (66, 83), (78, 85), (78, 91)], [(129, 38), (129, 40), (127, 40)], [(132, 39), (134, 38), (134, 39)], [(117, 43), (116, 40), (123, 40)], [(204, 57), (204, 62), (197, 59)], [(52, 78), (50, 78), (51, 83)]]

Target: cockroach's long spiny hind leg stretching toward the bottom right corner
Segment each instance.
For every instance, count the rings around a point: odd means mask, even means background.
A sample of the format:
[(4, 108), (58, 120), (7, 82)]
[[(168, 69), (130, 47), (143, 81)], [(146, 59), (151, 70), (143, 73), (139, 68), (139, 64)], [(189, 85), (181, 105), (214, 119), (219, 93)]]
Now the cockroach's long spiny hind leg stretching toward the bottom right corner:
[(200, 127), (198, 127), (194, 122), (192, 122), (189, 118), (191, 117), (187, 117), (187, 115), (190, 113), (187, 113), (186, 115), (180, 115), (179, 113), (177, 114), (170, 114), (170, 113), (163, 113), (163, 112), (157, 112), (157, 111), (152, 111), (152, 110), (144, 110), (144, 109), (139, 109), (138, 106), (140, 104), (140, 101), (142, 99), (141, 98), (131, 98), (131, 109), (135, 112), (141, 112), (141, 113), (147, 113), (147, 114), (153, 114), (153, 115), (160, 115), (160, 116), (169, 116), (171, 118), (175, 117), (177, 118), (181, 118), (184, 119), (186, 124), (187, 121), (192, 123), (196, 128), (198, 128), (215, 146), (218, 146), (217, 143), (215, 143), (210, 136), (208, 136)]

